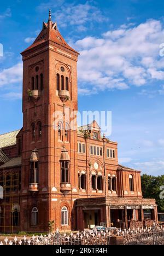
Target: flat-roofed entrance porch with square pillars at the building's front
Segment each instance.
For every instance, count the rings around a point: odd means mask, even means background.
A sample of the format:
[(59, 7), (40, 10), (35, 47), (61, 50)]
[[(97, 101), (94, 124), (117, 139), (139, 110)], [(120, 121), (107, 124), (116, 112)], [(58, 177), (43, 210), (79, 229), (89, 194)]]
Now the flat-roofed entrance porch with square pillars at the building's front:
[(77, 200), (77, 229), (92, 229), (96, 225), (129, 228), (144, 225), (144, 210), (151, 209), (151, 220), (158, 222), (154, 199), (124, 199), (95, 197)]

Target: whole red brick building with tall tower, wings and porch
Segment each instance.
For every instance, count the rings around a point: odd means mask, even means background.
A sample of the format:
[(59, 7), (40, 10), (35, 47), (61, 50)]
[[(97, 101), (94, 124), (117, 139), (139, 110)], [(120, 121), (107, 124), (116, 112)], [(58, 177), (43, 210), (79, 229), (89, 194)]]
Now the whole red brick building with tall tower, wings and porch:
[(0, 232), (43, 232), (52, 220), (61, 230), (127, 227), (147, 209), (157, 222), (140, 172), (118, 163), (118, 143), (102, 137), (96, 121), (74, 129), (76, 118), (66, 118), (78, 110), (79, 54), (51, 15), (21, 54), (23, 127), (0, 135)]

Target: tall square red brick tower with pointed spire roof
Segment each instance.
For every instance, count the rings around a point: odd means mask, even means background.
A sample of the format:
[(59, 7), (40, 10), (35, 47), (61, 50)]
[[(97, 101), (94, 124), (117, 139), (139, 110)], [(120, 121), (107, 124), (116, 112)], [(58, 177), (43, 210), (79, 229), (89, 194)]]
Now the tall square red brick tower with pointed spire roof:
[(54, 221), (54, 229), (71, 230), (78, 194), (77, 124), (72, 113), (78, 109), (79, 54), (61, 36), (51, 11), (36, 40), (21, 54), (24, 124), (20, 229), (40, 231), (42, 227), (47, 231), (48, 223)]

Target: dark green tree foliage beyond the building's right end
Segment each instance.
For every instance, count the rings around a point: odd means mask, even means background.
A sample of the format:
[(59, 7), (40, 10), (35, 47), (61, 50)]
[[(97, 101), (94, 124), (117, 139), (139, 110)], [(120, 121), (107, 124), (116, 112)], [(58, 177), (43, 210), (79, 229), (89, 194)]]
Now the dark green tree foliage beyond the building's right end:
[(160, 199), (160, 187), (164, 185), (164, 175), (150, 176), (143, 174), (141, 176), (142, 192), (144, 198), (154, 198), (158, 205), (158, 211), (164, 211), (164, 199)]

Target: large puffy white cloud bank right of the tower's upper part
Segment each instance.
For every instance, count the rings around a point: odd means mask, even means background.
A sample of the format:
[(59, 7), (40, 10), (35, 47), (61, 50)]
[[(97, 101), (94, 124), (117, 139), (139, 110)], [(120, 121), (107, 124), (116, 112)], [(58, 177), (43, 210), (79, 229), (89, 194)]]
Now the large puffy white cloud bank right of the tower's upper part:
[[(148, 20), (138, 26), (107, 31), (99, 38), (85, 37), (72, 43), (73, 48), (80, 51), (80, 88), (125, 90), (132, 85), (164, 80), (164, 59), (159, 56), (163, 38), (161, 22)], [(158, 94), (163, 92), (156, 90)]]

